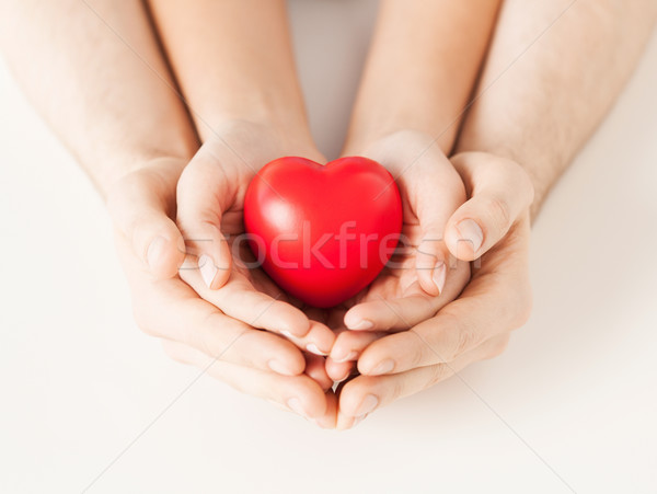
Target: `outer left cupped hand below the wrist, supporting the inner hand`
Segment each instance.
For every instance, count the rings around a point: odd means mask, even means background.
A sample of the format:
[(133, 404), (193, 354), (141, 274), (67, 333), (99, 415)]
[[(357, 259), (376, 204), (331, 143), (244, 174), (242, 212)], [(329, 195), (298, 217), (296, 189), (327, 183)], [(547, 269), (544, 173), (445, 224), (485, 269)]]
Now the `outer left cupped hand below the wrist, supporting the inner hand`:
[[(185, 244), (171, 217), (185, 164), (175, 158), (153, 160), (118, 180), (108, 192), (116, 245), (138, 325), (161, 338), (174, 359), (196, 365), (240, 391), (278, 403), (321, 426), (333, 426), (336, 400), (322, 359), (255, 328), (263, 325), (258, 319), (278, 317), (267, 314), (274, 303), (261, 305), (260, 312), (240, 321), (201, 299), (177, 277)], [(194, 276), (197, 271), (189, 272)]]

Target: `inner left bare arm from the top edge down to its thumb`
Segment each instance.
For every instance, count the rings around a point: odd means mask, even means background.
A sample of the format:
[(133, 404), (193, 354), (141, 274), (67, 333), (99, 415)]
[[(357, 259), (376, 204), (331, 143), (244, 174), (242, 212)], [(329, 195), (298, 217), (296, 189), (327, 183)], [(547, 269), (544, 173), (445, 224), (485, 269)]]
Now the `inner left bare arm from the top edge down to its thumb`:
[[(204, 146), (178, 184), (177, 222), (218, 289), (231, 273), (222, 221), (254, 173), (281, 156), (321, 161), (306, 117), (284, 0), (150, 0)], [(226, 215), (226, 216), (224, 216)], [(235, 225), (237, 223), (237, 225)], [(208, 260), (207, 262), (205, 260)]]

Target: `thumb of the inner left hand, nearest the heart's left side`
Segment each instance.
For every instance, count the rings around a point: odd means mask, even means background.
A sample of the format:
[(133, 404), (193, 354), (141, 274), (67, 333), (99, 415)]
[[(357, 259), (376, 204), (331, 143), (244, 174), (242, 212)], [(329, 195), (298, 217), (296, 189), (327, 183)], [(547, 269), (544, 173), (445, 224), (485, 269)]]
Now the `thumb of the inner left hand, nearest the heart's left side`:
[(187, 253), (197, 257), (203, 280), (210, 289), (226, 284), (232, 264), (221, 218), (235, 200), (239, 179), (222, 166), (222, 161), (208, 143), (201, 146), (177, 185), (177, 225)]

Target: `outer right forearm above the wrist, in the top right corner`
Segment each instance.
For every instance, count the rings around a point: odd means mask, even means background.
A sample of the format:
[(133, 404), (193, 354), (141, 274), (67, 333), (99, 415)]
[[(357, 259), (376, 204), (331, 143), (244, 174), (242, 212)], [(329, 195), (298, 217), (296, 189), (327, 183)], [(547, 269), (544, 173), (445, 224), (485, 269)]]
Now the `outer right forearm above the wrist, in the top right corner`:
[(520, 163), (535, 189), (532, 215), (610, 110), (657, 15), (653, 0), (570, 3), (505, 3), (457, 148)]

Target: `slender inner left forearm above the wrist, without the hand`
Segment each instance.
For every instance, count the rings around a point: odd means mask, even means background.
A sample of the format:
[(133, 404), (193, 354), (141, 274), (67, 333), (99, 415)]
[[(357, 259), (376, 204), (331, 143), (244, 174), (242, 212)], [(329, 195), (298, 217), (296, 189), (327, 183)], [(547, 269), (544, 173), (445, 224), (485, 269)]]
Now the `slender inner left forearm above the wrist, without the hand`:
[(150, 0), (203, 140), (249, 120), (310, 139), (284, 0)]

